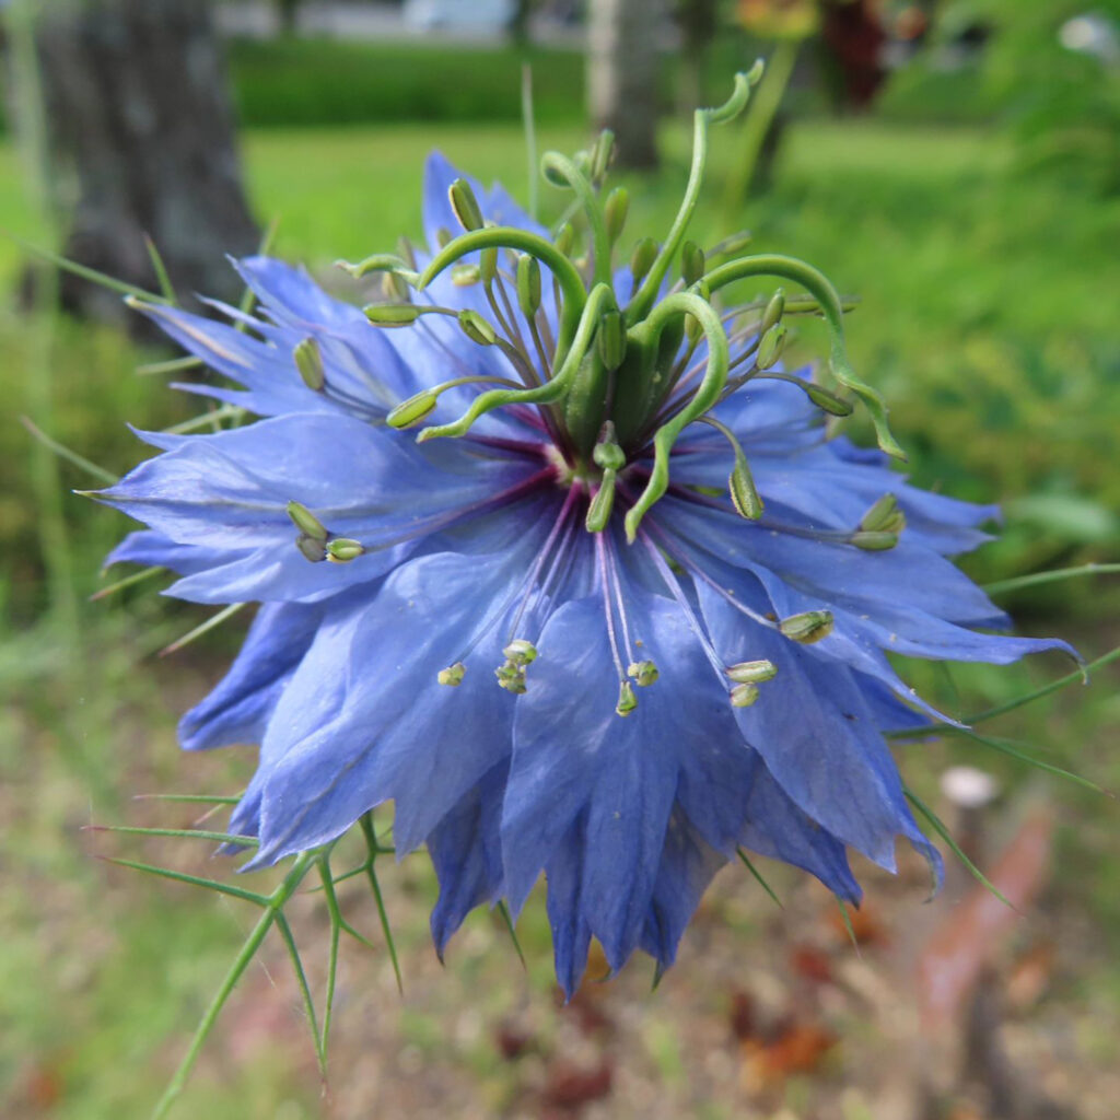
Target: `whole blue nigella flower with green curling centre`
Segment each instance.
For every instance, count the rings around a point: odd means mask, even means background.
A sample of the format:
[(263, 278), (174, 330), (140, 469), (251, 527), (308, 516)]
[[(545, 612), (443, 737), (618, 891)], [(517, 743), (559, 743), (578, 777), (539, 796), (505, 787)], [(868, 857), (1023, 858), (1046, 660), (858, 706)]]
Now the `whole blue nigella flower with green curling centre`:
[[(785, 319), (820, 310), (837, 380), (895, 450), (819, 273), (709, 267), (683, 243), (691, 185), (666, 243), (612, 270), (625, 195), (599, 202), (603, 149), (545, 159), (584, 207), (578, 256), (571, 228), (551, 240), (433, 156), (428, 253), (353, 268), (394, 302), (363, 312), (259, 256), (236, 264), (256, 315), (141, 305), (234, 383), (181, 388), (260, 419), (143, 433), (161, 454), (102, 495), (148, 526), (112, 560), (261, 604), (180, 725), (189, 750), (260, 744), (231, 822), (260, 840), (251, 866), (392, 801), (398, 852), (426, 844), (439, 878), (437, 949), (543, 871), (569, 993), (592, 936), (614, 969), (638, 948), (672, 963), (740, 846), (851, 902), (848, 848), (893, 869), (903, 837), (940, 876), (883, 732), (944, 717), (888, 654), (1061, 644), (987, 633), (1007, 618), (946, 559), (991, 507), (830, 438), (850, 404), (776, 364)], [(713, 310), (762, 273), (811, 298)]]

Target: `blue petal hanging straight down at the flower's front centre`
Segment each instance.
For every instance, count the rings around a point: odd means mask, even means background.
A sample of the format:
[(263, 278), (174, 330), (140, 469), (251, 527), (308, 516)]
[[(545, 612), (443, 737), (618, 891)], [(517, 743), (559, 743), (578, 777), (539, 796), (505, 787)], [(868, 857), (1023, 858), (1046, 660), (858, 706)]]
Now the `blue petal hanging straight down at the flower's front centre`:
[(618, 717), (603, 605), (564, 604), (541, 635), (517, 703), (502, 821), (506, 892), (517, 911), (542, 867), (551, 889), (563, 837), (584, 814), (580, 906), (616, 969), (641, 936), (688, 756), (737, 741), (726, 697), (679, 608), (636, 589), (627, 605), (635, 645), (661, 679), (640, 690), (633, 715)]

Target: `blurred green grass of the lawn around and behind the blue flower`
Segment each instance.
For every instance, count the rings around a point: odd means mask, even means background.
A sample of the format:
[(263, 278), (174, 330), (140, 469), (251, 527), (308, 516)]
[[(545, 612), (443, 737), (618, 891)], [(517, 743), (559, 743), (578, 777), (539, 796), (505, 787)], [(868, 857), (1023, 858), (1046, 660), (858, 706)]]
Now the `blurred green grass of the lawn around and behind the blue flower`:
[[(541, 139), (571, 150), (584, 138), (575, 125), (545, 121)], [(976, 127), (802, 121), (787, 140), (773, 193), (749, 202), (736, 224), (755, 231), (759, 249), (804, 256), (843, 291), (859, 293), (862, 304), (850, 323), (853, 356), (893, 402), (917, 479), (961, 496), (1009, 502), (1007, 536), (976, 558), (973, 570), (995, 578), (1114, 558), (1120, 333), (1109, 293), (1120, 280), (1120, 200), (1089, 205), (1052, 179), (1009, 175), (1002, 138)], [(524, 197), (528, 172), (515, 124), (250, 132), (249, 181), (261, 217), (280, 218), (276, 251), (329, 274), (336, 256), (392, 245), (402, 231), (417, 234), (421, 164), (431, 147), (480, 178), (501, 176)], [(634, 197), (633, 230), (663, 230), (675, 209), (687, 174), (685, 131), (666, 128), (664, 148), (666, 166), (655, 179), (624, 179)], [(717, 158), (712, 198), (721, 166)], [(0, 225), (35, 237), (41, 231), (16, 178), (11, 151), (0, 149)], [(558, 199), (545, 196), (545, 204), (554, 209)], [(711, 222), (700, 232), (715, 237), (724, 231)], [(4, 283), (18, 262), (18, 252), (0, 242)], [(83, 609), (77, 640), (28, 628), (46, 606), (29, 442), (12, 419), (27, 396), (29, 336), (26, 317), (0, 315), (0, 383), (12, 402), (0, 427), (0, 459), (9, 465), (0, 492), (8, 617), (0, 698), (10, 701), (0, 722), (0, 808), (15, 837), (6, 870), (11, 881), (0, 890), (0, 917), (9, 931), (0, 1023), (10, 1025), (11, 1039), (0, 1054), (0, 1085), (24, 1084), (29, 1066), (43, 1066), (58, 1093), (57, 1107), (46, 1114), (93, 1120), (138, 1114), (153, 1100), (181, 1052), (184, 1036), (174, 1033), (193, 1026), (246, 918), (232, 917), (222, 900), (103, 868), (87, 849), (109, 846), (77, 839), (77, 829), (91, 812), (133, 823), (160, 816), (150, 804), (129, 806), (125, 799), (134, 792), (228, 792), (244, 781), (251, 757), (176, 755), (175, 716), (217, 675), (232, 642), (218, 638), (157, 670), (149, 651), (189, 628), (200, 617), (193, 608), (168, 613), (150, 597), (129, 596), (123, 612)], [(140, 454), (125, 421), (157, 427), (188, 414), (189, 404), (158, 379), (132, 373), (151, 355), (138, 354), (112, 332), (62, 323), (50, 345), (52, 433), (111, 470), (127, 469)], [(67, 486), (90, 484), (69, 466), (63, 479)], [(97, 586), (100, 559), (127, 523), (72, 495), (64, 501), (84, 594)], [(1034, 628), (1100, 653), (1120, 636), (1116, 604), (1117, 592), (1093, 580), (1020, 597), (1015, 605), (1034, 616)], [(958, 674), (958, 683), (971, 708), (1063, 671), (1056, 661), (976, 669)], [(1108, 746), (1120, 707), (1110, 679), (1114, 672), (1088, 699), (1071, 690), (1009, 718), (1001, 730), (1029, 737), (1051, 760), (1116, 787), (1120, 762)], [(951, 758), (979, 760), (1016, 780), (1006, 759), (977, 759), (971, 748), (906, 750), (905, 765), (920, 784), (934, 764)], [(1084, 909), (1109, 931), (1109, 944), (1120, 948), (1111, 803), (1074, 787), (1055, 790), (1055, 797), (1065, 822), (1060, 858), (1070, 869), (1055, 887), (1056, 904)], [(188, 857), (165, 846), (144, 849), (142, 858)], [(409, 913), (407, 897), (411, 892), (413, 903), (428, 898), (430, 877), (420, 861), (386, 877), (400, 875)], [(402, 936), (419, 953), (423, 906), (413, 905), (405, 921)], [(487, 959), (505, 960), (507, 946), (491, 936)], [(548, 930), (540, 913), (523, 940), (534, 984), (544, 991)], [(1120, 970), (1100, 965), (1083, 983), (1086, 991), (1104, 984), (1120, 992)], [(438, 1047), (438, 1032), (433, 1040), (422, 1016), (413, 1015), (405, 1027), (412, 1045)], [(215, 1060), (206, 1070), (183, 1114), (314, 1114), (314, 1073), (296, 1076), (279, 1060), (259, 1057), (243, 1064)]]

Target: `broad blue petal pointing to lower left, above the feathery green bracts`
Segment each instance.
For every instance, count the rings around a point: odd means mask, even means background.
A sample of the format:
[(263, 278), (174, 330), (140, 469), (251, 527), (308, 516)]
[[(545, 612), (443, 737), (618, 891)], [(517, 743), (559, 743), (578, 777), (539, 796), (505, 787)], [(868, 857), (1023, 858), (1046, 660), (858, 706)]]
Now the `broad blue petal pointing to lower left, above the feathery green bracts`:
[[(508, 755), (514, 701), (493, 678), (505, 637), (494, 623), (538, 544), (526, 533), (503, 556), (404, 563), (352, 612), (348, 640), (311, 672), (305, 661), (288, 690), (297, 708), (316, 678), (344, 683), (324, 718), (283, 719), (286, 693), (269, 726), (260, 862), (325, 843), (389, 799), (403, 855)], [(460, 660), (463, 683), (439, 684), (437, 673)]]

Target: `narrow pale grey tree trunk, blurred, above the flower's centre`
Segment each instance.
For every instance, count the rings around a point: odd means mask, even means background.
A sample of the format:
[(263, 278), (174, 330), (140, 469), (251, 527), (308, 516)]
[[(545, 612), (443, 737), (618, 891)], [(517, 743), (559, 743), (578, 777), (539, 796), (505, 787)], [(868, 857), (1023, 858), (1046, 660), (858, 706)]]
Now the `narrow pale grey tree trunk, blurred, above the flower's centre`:
[(618, 160), (657, 165), (659, 43), (664, 0), (591, 0), (588, 100), (596, 128), (610, 129)]

